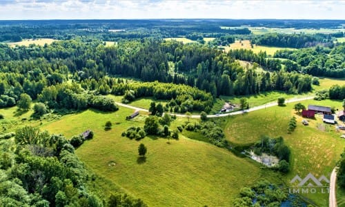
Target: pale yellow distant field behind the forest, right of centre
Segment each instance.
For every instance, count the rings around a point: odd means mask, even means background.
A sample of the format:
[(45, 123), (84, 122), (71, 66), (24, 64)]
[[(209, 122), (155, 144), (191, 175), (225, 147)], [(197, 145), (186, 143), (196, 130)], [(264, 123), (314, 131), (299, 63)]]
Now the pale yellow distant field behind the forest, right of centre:
[(259, 53), (260, 51), (264, 52), (266, 51), (267, 55), (273, 56), (277, 50), (283, 50), (283, 49), (288, 49), (288, 50), (295, 50), (293, 48), (277, 48), (277, 47), (266, 47), (266, 46), (256, 46), (255, 44), (253, 45), (253, 48), (250, 46), (250, 41), (249, 40), (243, 40), (239, 42), (238, 40), (235, 41), (235, 43), (231, 43), (230, 46), (223, 47), (225, 48), (225, 51), (228, 52), (231, 49), (247, 49), (247, 50), (253, 50), (255, 53)]

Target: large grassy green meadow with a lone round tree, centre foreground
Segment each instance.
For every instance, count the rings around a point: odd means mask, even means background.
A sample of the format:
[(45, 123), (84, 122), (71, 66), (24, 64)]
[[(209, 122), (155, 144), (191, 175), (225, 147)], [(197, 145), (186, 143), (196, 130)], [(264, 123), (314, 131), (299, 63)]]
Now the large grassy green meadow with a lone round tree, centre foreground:
[[(146, 115), (142, 113), (133, 121), (126, 121), (132, 112), (128, 108), (111, 113), (86, 110), (42, 128), (66, 137), (92, 129), (95, 137), (76, 153), (92, 172), (104, 178), (99, 180), (104, 195), (115, 189), (109, 186), (117, 186), (144, 199), (149, 206), (231, 206), (243, 186), (262, 177), (277, 179), (275, 173), (260, 169), (250, 159), (182, 135), (179, 140), (170, 139), (170, 144), (167, 139), (156, 137), (141, 141), (121, 137), (129, 126), (144, 124)], [(113, 126), (106, 131), (103, 127), (108, 120)], [(140, 143), (148, 148), (146, 161), (137, 156)]]

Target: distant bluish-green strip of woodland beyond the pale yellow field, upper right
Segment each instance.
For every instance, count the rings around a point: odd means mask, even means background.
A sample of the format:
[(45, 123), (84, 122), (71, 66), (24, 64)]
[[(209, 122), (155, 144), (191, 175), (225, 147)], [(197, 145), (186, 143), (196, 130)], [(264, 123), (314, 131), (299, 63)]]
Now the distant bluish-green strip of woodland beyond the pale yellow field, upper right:
[(324, 46), (333, 46), (331, 34), (268, 33), (253, 37), (250, 42), (260, 46), (281, 48), (308, 48), (320, 43)]

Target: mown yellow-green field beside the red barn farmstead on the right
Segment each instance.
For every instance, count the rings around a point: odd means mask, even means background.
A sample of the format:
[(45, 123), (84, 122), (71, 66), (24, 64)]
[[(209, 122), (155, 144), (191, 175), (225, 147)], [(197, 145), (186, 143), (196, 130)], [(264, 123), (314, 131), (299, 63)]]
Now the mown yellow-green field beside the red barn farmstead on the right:
[[(342, 109), (341, 101), (302, 101), (307, 107), (308, 104), (319, 106), (335, 106)], [(332, 169), (339, 160), (345, 148), (345, 139), (340, 138), (345, 131), (336, 132), (335, 126), (326, 126), (326, 131), (317, 129), (317, 124), (322, 123), (321, 115), (316, 119), (308, 119), (309, 126), (302, 125), (302, 117), (295, 114), (293, 106), (295, 103), (288, 103), (284, 107), (270, 107), (264, 110), (257, 110), (244, 115), (227, 117), (224, 132), (227, 139), (235, 145), (253, 144), (260, 140), (260, 136), (284, 137), (286, 144), (290, 147), (291, 170), (284, 179), (289, 182), (295, 175), (305, 177), (309, 172), (316, 177), (325, 175), (330, 177)], [(297, 128), (291, 134), (287, 133), (288, 121), (291, 117), (297, 117)], [(317, 206), (327, 206), (327, 194), (308, 194)]]

